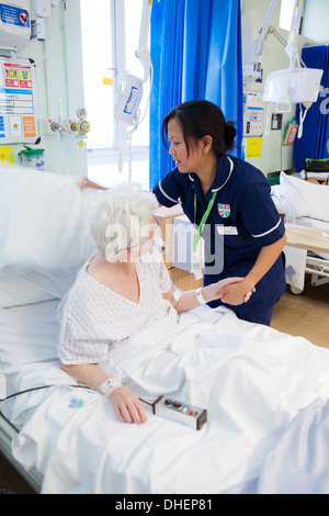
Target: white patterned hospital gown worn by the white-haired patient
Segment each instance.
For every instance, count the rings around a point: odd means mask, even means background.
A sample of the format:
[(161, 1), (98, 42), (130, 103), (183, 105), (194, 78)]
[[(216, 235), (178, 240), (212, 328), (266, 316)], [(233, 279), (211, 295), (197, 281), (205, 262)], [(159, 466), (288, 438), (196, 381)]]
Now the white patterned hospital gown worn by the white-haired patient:
[(86, 269), (90, 260), (81, 268), (57, 312), (60, 323), (57, 352), (66, 364), (103, 362), (114, 343), (161, 317), (170, 305), (162, 293), (170, 290), (171, 280), (158, 253), (147, 254), (136, 263), (138, 303), (89, 276)]

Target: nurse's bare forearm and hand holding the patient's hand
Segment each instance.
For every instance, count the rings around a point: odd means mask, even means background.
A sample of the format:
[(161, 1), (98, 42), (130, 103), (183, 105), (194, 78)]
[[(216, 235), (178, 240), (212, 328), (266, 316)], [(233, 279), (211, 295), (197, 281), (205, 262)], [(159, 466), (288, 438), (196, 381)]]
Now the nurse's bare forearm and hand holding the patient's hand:
[(285, 244), (286, 235), (280, 238), (280, 240), (276, 240), (274, 244), (263, 247), (259, 254), (254, 266), (246, 276), (243, 281), (241, 281), (240, 283), (230, 284), (224, 289), (224, 295), (222, 295), (222, 301), (231, 305), (242, 304), (245, 295), (250, 292), (253, 288), (257, 289), (257, 283), (275, 263)]

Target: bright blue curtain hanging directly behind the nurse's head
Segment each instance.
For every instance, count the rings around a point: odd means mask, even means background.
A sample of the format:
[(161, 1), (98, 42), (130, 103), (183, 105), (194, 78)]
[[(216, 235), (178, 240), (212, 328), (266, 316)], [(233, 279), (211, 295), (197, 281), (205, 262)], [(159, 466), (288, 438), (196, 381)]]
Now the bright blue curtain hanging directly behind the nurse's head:
[(154, 0), (154, 87), (150, 99), (152, 188), (173, 168), (161, 142), (161, 125), (181, 102), (205, 99), (236, 123), (241, 157), (243, 132), (240, 0)]

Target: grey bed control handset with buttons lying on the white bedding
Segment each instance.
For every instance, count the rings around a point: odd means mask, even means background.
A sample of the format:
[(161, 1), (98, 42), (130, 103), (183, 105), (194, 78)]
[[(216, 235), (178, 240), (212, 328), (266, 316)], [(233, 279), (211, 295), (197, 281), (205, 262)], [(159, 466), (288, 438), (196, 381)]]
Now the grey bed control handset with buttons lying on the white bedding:
[(151, 405), (154, 414), (164, 417), (164, 419), (190, 426), (195, 430), (201, 430), (207, 422), (207, 411), (205, 408), (200, 408), (172, 397), (161, 395), (155, 402), (148, 403), (148, 405)]

